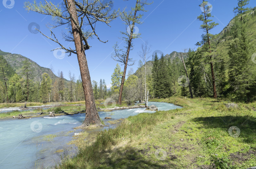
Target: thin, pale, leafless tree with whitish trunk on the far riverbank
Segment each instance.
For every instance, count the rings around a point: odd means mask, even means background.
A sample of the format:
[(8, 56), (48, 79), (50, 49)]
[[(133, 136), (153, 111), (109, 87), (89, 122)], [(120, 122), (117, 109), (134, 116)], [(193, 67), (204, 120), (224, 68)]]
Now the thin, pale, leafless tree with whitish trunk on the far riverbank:
[(150, 50), (150, 46), (148, 45), (148, 41), (145, 42), (145, 44), (141, 44), (141, 51), (138, 53), (138, 55), (141, 57), (144, 65), (143, 65), (143, 68), (144, 68), (144, 88), (145, 88), (145, 106), (147, 107), (148, 106), (148, 99), (147, 99), (147, 83), (146, 83), (146, 63), (147, 63), (147, 60), (149, 60), (149, 57), (151, 55), (149, 55), (149, 53), (151, 53), (151, 50)]

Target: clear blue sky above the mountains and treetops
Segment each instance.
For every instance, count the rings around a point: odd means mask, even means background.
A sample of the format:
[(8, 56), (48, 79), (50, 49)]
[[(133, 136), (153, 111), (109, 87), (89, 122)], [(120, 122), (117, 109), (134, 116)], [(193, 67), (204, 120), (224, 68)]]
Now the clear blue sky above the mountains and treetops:
[[(5, 7), (5, 2), (9, 9)], [(51, 17), (35, 12), (28, 13), (23, 7), (24, 2), (24, 0), (3, 0), (3, 4), (0, 4), (0, 49), (26, 56), (42, 67), (50, 67), (52, 64), (55, 74), (58, 70), (61, 70), (64, 72), (66, 79), (68, 79), (70, 70), (75, 73), (76, 79), (78, 79), (80, 72), (76, 55), (68, 56), (68, 54), (65, 54), (62, 59), (57, 59), (51, 50), (58, 48), (58, 44), (46, 39), (40, 33), (33, 34), (30, 32), (31, 29), (30, 31), (28, 29), (29, 24), (34, 22), (40, 26), (40, 31), (49, 36), (50, 31), (46, 28), (46, 24), (52, 22)], [(60, 3), (62, 1), (52, 0), (52, 2)], [(216, 34), (222, 31), (234, 17), (233, 9), (237, 6), (237, 0), (209, 0), (208, 2), (213, 6), (211, 12), (215, 16), (213, 20), (219, 23), (211, 31), (212, 34)], [(130, 9), (135, 3), (136, 0), (115, 0), (114, 9), (124, 9), (125, 7)], [(140, 60), (137, 53), (141, 44), (146, 40), (151, 45), (152, 53), (155, 50), (160, 50), (164, 54), (170, 54), (173, 51), (180, 52), (185, 48), (193, 49), (195, 47), (194, 44), (200, 40), (203, 33), (199, 29), (201, 22), (196, 20), (197, 16), (201, 14), (200, 3), (202, 3), (201, 0), (155, 0), (153, 4), (145, 7), (148, 12), (145, 12), (142, 18), (144, 23), (136, 25), (139, 33), (141, 33), (141, 38), (133, 41), (134, 50), (130, 53), (130, 58), (137, 60), (135, 65), (131, 66), (134, 71), (137, 70), (138, 61)], [(249, 7), (254, 6), (256, 6), (256, 1), (252, 0)], [(119, 39), (121, 36), (119, 31), (125, 31), (125, 25), (120, 18), (114, 20), (110, 25), (111, 27), (103, 24), (96, 26), (97, 34), (101, 40), (108, 40), (108, 42), (104, 44), (96, 38), (89, 40), (89, 45), (92, 47), (86, 51), (91, 79), (97, 82), (100, 79), (105, 79), (107, 84), (111, 83), (111, 75), (117, 64), (111, 58), (113, 45), (116, 42), (122, 42)], [(32, 28), (34, 27), (32, 26)], [(55, 32), (60, 42), (67, 47), (74, 48), (74, 44), (61, 39), (61, 31), (65, 31), (64, 28), (55, 29), (53, 32)], [(120, 47), (124, 45), (123, 42)], [(58, 55), (60, 54), (59, 52)], [(127, 71), (131, 67), (128, 67)], [(121, 66), (121, 69), (123, 68)]]

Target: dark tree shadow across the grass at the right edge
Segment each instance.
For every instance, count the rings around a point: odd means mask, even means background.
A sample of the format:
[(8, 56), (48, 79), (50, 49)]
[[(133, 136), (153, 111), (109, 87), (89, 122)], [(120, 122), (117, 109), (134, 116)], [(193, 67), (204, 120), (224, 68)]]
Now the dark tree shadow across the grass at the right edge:
[[(256, 143), (256, 118), (252, 116), (216, 116), (216, 117), (199, 117), (192, 121), (202, 123), (203, 128), (219, 128), (228, 133), (231, 126), (240, 129), (241, 142)], [(238, 130), (239, 130), (238, 129)], [(236, 130), (236, 133), (239, 132)], [(231, 130), (232, 131), (232, 130)]]

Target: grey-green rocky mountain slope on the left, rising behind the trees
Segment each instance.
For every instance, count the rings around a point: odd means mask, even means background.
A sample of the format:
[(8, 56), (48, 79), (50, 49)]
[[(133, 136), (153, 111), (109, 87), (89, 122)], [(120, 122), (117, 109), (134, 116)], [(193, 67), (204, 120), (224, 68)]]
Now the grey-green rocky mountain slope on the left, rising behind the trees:
[[(8, 64), (14, 69), (15, 73), (18, 75), (21, 74), (21, 68), (22, 68), (22, 61), (25, 59), (28, 59), (25, 56), (19, 55), (19, 54), (11, 54), (8, 52), (3, 52), (0, 50), (0, 55), (3, 55), (3, 58), (8, 62)], [(52, 80), (56, 80), (58, 77), (51, 71), (51, 69), (46, 67), (39, 66), (36, 62), (32, 61), (31, 59), (28, 59), (28, 61), (31, 63), (31, 80), (33, 81), (40, 81), (42, 79), (43, 73), (48, 73)], [(23, 77), (25, 78), (25, 77)], [(68, 81), (68, 80), (66, 80)]]

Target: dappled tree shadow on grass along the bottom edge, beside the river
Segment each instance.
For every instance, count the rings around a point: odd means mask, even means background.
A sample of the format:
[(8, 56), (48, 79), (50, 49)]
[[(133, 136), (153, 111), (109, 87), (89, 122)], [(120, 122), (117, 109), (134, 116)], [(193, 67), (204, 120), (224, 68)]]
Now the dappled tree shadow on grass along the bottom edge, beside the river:
[(168, 169), (174, 168), (172, 164), (163, 164), (164, 161), (151, 159), (150, 156), (143, 155), (137, 149), (132, 147), (118, 148), (113, 150), (111, 156), (108, 156), (98, 169)]

